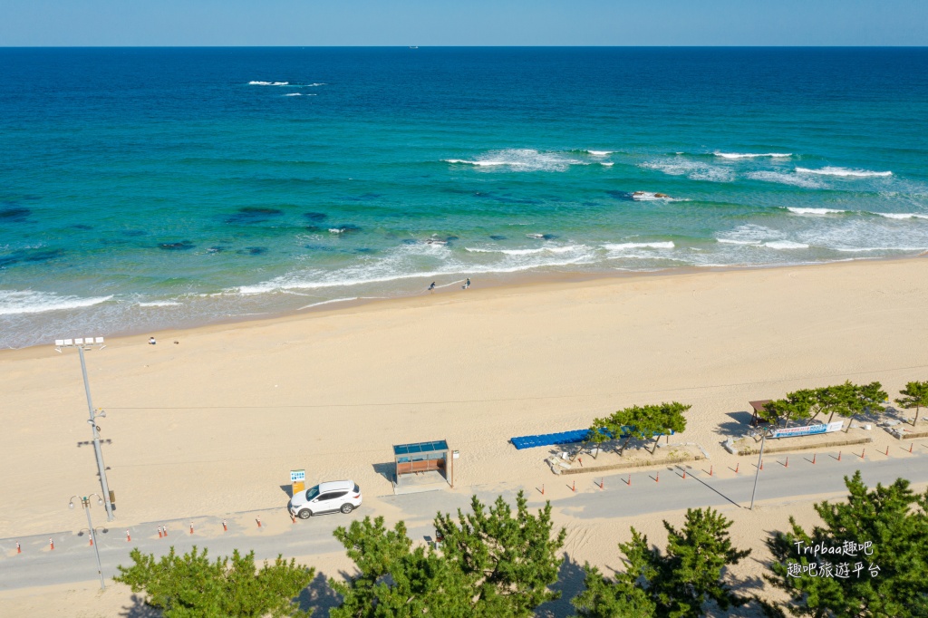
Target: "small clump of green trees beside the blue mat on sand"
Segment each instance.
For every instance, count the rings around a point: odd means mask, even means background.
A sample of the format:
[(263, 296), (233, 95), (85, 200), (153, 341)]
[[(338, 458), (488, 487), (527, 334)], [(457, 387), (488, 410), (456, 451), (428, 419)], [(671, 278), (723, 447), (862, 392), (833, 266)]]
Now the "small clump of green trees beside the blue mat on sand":
[(608, 417), (594, 419), (586, 434), (584, 444), (599, 446), (607, 442), (618, 443), (619, 440), (625, 438), (621, 444), (617, 445), (616, 452), (621, 456), (625, 452), (625, 446), (633, 438), (642, 442), (653, 440), (654, 446), (651, 448), (651, 455), (653, 455), (657, 450), (657, 441), (662, 435), (687, 429), (687, 419), (683, 413), (690, 407), (692, 406), (676, 401), (650, 406), (626, 407), (613, 412)]

